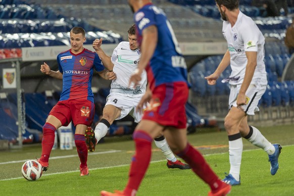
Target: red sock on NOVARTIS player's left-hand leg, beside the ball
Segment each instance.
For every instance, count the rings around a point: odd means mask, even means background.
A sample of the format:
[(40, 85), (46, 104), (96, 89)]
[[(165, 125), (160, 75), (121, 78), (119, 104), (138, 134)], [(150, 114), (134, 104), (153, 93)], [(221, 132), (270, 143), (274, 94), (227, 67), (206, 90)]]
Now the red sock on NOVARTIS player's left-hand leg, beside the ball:
[(42, 162), (49, 161), (51, 150), (54, 145), (55, 130), (55, 126), (50, 123), (46, 122), (43, 126), (42, 155), (40, 158)]

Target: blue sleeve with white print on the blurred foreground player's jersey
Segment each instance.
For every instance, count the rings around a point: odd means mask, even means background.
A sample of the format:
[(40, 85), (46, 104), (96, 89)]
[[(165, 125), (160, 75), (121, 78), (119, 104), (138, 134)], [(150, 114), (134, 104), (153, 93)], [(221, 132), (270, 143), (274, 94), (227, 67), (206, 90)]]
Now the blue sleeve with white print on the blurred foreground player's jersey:
[(150, 7), (149, 10), (143, 10), (134, 15), (136, 27), (140, 35), (145, 28), (156, 25), (155, 12), (153, 9), (155, 8)]

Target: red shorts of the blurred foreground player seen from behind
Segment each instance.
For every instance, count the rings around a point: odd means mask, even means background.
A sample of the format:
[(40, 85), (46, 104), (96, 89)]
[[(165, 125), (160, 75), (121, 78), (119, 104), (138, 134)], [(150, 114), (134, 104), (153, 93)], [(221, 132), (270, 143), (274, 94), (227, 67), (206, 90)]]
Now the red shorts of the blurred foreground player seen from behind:
[(155, 87), (152, 93), (150, 105), (142, 119), (152, 120), (163, 126), (186, 128), (187, 84), (185, 82), (161, 84)]

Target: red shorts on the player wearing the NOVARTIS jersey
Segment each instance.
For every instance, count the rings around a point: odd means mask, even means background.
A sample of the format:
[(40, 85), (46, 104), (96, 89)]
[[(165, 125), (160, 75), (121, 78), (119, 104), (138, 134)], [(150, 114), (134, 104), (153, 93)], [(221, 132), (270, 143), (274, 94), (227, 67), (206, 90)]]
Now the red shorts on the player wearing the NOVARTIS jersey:
[(71, 121), (74, 126), (77, 124), (91, 126), (94, 112), (94, 103), (89, 100), (64, 100), (59, 101), (49, 115), (58, 118), (62, 126), (67, 126)]

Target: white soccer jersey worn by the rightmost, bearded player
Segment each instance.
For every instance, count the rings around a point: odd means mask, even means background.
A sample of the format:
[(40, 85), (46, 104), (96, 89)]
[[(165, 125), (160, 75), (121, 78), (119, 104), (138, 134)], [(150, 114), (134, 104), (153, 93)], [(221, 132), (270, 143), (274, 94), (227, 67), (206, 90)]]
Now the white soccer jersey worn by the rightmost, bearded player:
[(257, 52), (257, 66), (252, 78), (252, 83), (259, 80), (267, 83), (264, 64), (265, 39), (255, 22), (248, 16), (239, 12), (233, 27), (228, 21), (223, 22), (222, 33), (227, 40), (230, 53), (232, 72), (230, 84), (241, 84), (244, 79), (247, 57), (245, 52)]

